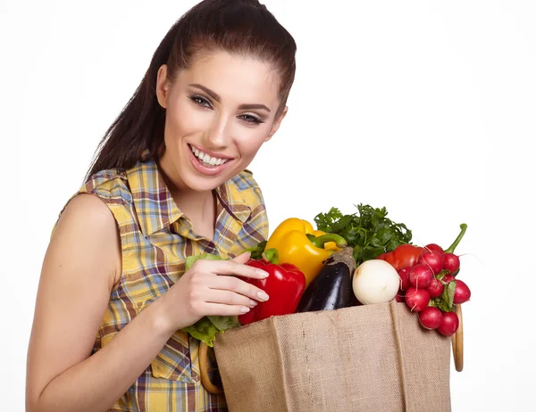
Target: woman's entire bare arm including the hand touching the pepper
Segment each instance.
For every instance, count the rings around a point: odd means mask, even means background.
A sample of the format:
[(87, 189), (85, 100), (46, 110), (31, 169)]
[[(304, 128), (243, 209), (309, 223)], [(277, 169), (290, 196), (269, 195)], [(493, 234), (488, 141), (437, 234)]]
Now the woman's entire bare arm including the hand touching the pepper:
[(110, 292), (121, 274), (115, 220), (90, 194), (73, 199), (58, 223), (38, 288), (29, 342), (29, 412), (109, 409), (170, 336), (206, 315), (235, 316), (268, 299), (238, 275), (267, 276), (234, 261), (198, 260), (162, 297), (90, 356)]

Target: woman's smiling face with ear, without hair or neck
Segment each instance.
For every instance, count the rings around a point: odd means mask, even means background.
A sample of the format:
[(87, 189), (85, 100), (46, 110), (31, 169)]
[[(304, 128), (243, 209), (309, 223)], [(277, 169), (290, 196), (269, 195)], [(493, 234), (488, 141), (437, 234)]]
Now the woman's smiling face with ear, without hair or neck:
[(279, 128), (279, 78), (266, 62), (226, 52), (198, 58), (174, 81), (158, 72), (166, 109), (161, 167), (174, 189), (210, 191), (247, 168)]

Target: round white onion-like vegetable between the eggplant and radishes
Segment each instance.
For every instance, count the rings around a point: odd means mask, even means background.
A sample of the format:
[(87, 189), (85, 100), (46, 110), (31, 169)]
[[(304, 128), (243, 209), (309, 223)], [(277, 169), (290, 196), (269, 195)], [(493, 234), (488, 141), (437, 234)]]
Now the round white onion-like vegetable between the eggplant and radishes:
[(385, 303), (397, 296), (400, 276), (385, 260), (365, 260), (356, 268), (352, 286), (357, 301), (364, 305)]

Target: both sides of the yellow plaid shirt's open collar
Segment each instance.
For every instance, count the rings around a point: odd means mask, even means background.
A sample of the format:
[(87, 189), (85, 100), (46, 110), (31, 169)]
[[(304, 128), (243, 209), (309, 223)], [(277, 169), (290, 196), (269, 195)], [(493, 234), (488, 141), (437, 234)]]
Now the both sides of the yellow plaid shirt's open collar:
[[(170, 227), (183, 216), (154, 160), (139, 161), (134, 168), (127, 170), (127, 179), (143, 235), (152, 235)], [(216, 187), (215, 193), (222, 207), (244, 223), (251, 215), (251, 208), (244, 200), (236, 179), (233, 177)]]

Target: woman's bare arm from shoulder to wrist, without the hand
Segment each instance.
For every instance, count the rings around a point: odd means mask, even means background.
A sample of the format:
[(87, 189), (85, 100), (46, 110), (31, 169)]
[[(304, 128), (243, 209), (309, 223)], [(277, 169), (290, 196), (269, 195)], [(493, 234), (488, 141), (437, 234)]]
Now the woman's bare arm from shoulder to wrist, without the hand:
[(93, 195), (71, 201), (46, 251), (29, 342), (27, 410), (107, 410), (172, 334), (160, 302), (147, 307), (89, 358), (121, 274), (112, 213)]

